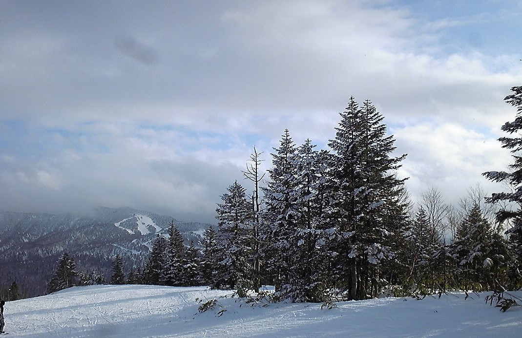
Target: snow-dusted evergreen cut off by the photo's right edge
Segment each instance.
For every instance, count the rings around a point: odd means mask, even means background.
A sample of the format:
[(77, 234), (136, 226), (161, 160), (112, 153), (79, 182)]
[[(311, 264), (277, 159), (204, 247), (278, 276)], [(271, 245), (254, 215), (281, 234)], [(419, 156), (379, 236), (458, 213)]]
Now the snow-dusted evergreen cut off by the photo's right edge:
[[(522, 131), (522, 86), (512, 87), (513, 94), (505, 97), (505, 101), (517, 109), (516, 118), (513, 122), (506, 122), (502, 126), (502, 131), (509, 134), (519, 135)], [(496, 214), (497, 222), (508, 222), (511, 227), (507, 230), (509, 236), (509, 247), (511, 250), (510, 275), (512, 276), (512, 287), (522, 287), (522, 137), (500, 137), (502, 147), (511, 149), (513, 163), (509, 165), (511, 172), (488, 171), (483, 175), (496, 182), (506, 182), (513, 187), (512, 191), (494, 193), (488, 197), (488, 202), (496, 203), (505, 201), (508, 205), (513, 203), (513, 209), (504, 208)]]

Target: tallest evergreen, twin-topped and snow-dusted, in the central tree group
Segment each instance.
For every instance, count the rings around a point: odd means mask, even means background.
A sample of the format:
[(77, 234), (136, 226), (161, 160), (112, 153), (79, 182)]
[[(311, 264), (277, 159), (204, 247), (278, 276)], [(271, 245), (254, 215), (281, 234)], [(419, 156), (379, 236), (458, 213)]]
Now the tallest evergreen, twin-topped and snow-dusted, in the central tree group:
[(390, 157), (395, 140), (386, 136), (383, 119), (370, 101), (360, 108), (352, 97), (329, 143), (334, 151), (329, 194), (335, 233), (330, 250), (337, 283), (350, 299), (377, 293), (380, 268), (396, 251), (394, 229), (385, 216), (404, 213), (397, 204), (404, 182), (394, 171), (405, 155)]

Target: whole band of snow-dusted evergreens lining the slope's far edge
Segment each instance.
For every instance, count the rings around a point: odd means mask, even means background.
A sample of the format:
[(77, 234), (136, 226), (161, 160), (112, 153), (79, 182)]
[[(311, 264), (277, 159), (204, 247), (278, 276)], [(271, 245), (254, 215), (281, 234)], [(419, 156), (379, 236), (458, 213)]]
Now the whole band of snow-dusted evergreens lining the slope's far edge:
[[(383, 296), (423, 297), (448, 290), (522, 288), (522, 86), (506, 103), (516, 109), (499, 139), (513, 153), (507, 171), (484, 172), (503, 192), (480, 185), (448, 205), (434, 187), (411, 201), (407, 178), (384, 116), (352, 97), (340, 113), (328, 149), (294, 143), (284, 130), (268, 156), (253, 153), (221, 195), (217, 226), (200, 243), (183, 242), (172, 223), (158, 236), (144, 266), (127, 270), (114, 258), (112, 276), (78, 272), (64, 253), (48, 293), (72, 285), (210, 285), (238, 295), (274, 285), (274, 301), (323, 302)], [(506, 164), (508, 165), (508, 164)], [(495, 168), (492, 168), (492, 170)], [(500, 169), (500, 168), (496, 168)], [(246, 181), (254, 189), (247, 191)], [(15, 288), (12, 286), (11, 288)], [(15, 290), (9, 291), (11, 294)]]

